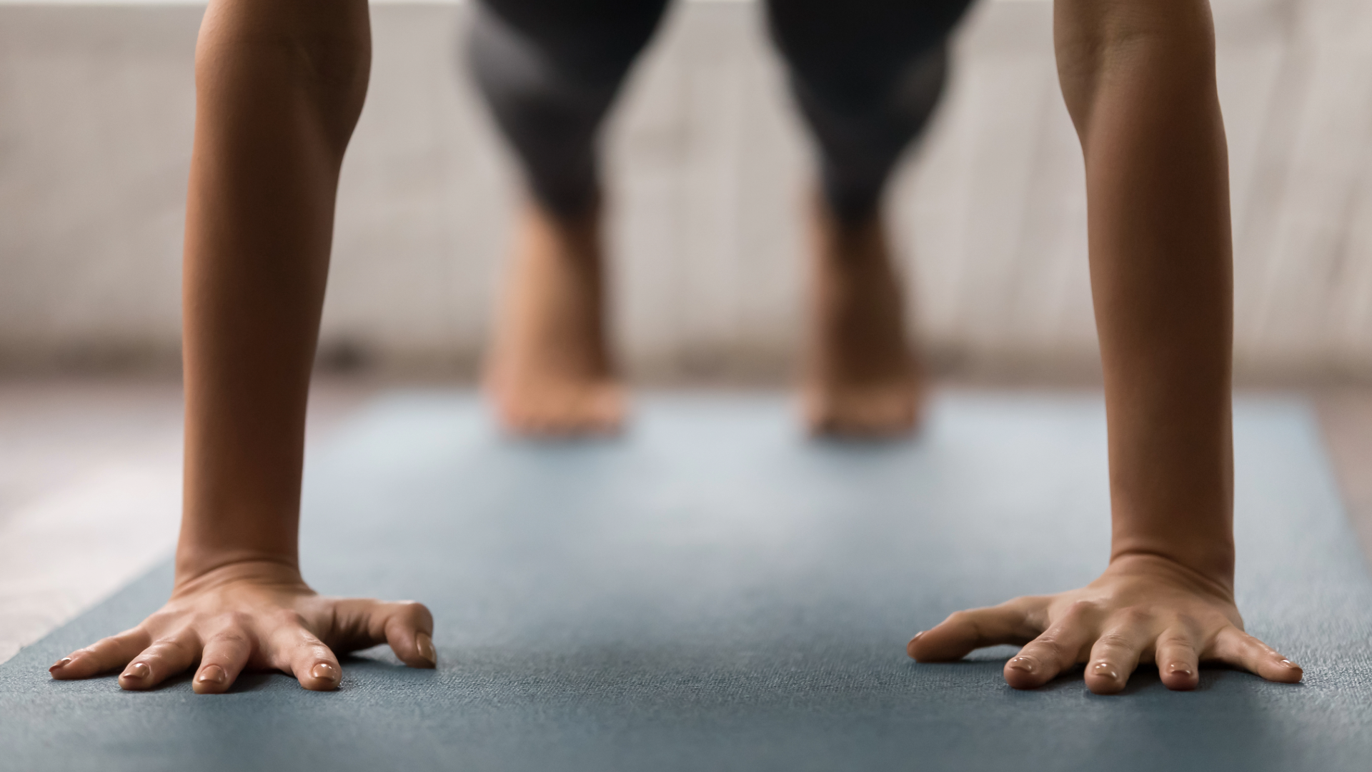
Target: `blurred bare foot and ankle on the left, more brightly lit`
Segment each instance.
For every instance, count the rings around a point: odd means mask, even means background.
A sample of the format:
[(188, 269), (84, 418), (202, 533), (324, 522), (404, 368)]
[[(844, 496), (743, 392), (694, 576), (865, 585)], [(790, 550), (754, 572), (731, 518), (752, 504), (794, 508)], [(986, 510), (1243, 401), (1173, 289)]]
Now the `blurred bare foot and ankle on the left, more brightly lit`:
[(605, 343), (601, 251), (598, 212), (561, 220), (524, 207), (486, 378), (508, 430), (619, 430), (624, 397)]

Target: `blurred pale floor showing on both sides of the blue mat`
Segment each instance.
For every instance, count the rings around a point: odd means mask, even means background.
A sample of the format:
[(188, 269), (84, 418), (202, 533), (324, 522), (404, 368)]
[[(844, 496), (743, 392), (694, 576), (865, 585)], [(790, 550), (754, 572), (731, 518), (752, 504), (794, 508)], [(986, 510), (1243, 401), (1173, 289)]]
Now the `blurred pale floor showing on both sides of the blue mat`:
[[(309, 444), (390, 383), (327, 378)], [(1372, 555), (1372, 389), (1310, 393), (1349, 515)], [(170, 552), (181, 391), (172, 382), (0, 382), (0, 662)]]

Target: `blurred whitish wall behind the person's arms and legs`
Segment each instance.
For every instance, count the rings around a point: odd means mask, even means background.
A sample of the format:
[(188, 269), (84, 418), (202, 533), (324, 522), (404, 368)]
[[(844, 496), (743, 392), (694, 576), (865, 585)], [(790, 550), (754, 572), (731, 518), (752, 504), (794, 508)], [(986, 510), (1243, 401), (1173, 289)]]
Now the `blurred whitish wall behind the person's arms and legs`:
[[(1216, 0), (1243, 379), (1372, 379), (1372, 3)], [(0, 0), (0, 370), (177, 367), (203, 5)], [(373, 3), (322, 356), (475, 371), (519, 187), (461, 67), (465, 8)], [(801, 328), (805, 137), (746, 0), (678, 3), (608, 136), (615, 331), (641, 381), (775, 381)], [(945, 374), (1096, 370), (1081, 157), (1047, 0), (981, 0), (896, 180)]]

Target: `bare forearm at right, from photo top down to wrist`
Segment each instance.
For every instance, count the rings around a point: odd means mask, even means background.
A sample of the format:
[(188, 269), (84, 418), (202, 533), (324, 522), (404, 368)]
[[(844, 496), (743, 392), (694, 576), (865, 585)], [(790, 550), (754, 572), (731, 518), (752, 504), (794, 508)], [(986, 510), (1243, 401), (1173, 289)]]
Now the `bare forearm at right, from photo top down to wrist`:
[(1232, 585), (1228, 162), (1203, 0), (1058, 0), (1087, 165), (1111, 559)]

